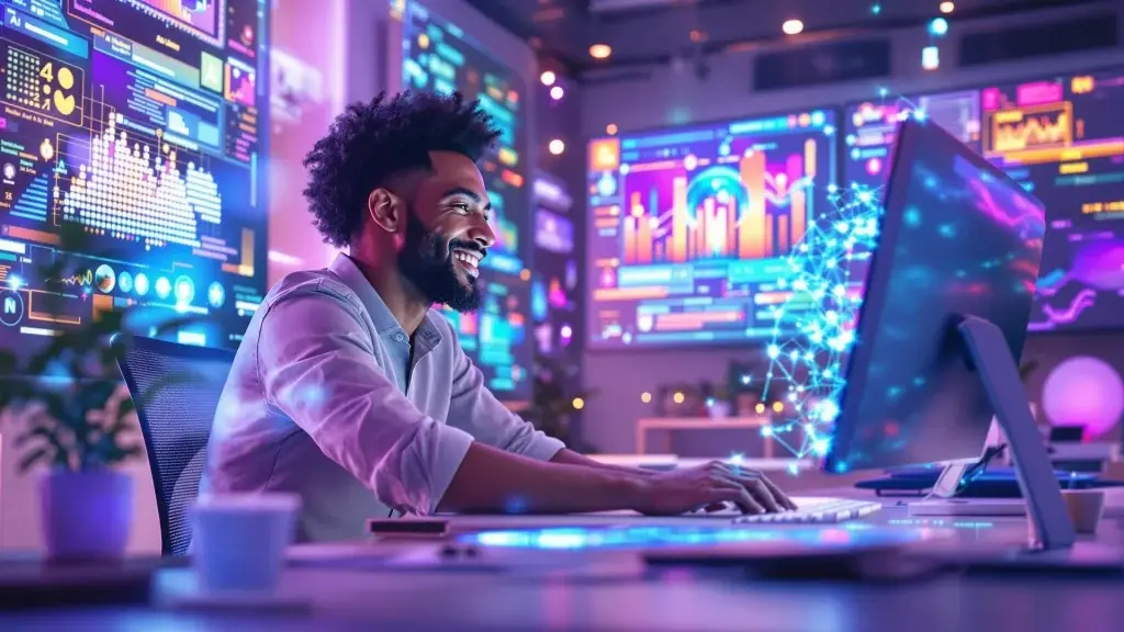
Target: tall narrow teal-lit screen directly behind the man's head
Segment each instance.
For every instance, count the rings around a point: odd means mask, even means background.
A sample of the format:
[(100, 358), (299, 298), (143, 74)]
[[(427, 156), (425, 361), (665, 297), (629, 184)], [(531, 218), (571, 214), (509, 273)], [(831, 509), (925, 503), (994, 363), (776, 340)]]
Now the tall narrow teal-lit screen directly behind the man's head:
[(531, 396), (534, 341), (529, 335), (531, 219), (526, 160), (526, 94), (518, 74), (489, 55), (456, 25), (417, 2), (407, 7), (402, 81), (406, 88), (459, 91), (479, 99), (500, 129), (497, 147), (480, 162), (492, 202), (496, 244), (480, 274), (483, 307), (475, 314), (445, 310), (461, 345), (484, 373), (488, 387), (508, 401)]

